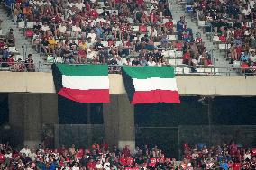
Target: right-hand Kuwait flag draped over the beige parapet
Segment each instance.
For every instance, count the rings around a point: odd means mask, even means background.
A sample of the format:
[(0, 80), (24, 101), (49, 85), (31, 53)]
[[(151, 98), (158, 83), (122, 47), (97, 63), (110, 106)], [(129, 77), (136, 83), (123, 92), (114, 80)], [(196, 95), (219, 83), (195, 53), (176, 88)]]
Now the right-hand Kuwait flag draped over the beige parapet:
[(173, 67), (122, 67), (132, 104), (180, 103)]

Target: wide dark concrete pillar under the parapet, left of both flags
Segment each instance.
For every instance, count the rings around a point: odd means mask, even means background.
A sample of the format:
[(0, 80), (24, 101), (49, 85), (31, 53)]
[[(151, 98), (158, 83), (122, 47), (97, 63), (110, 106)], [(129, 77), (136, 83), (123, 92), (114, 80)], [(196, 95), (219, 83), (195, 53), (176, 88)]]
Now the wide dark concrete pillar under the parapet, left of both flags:
[(58, 123), (57, 94), (9, 94), (9, 123), (14, 145), (38, 145), (43, 124)]

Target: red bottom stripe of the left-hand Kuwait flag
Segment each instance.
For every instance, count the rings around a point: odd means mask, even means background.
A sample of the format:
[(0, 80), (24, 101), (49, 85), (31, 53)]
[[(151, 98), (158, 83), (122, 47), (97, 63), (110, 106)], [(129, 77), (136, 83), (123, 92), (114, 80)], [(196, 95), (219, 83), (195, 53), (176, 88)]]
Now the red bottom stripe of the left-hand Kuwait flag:
[(109, 89), (78, 90), (61, 88), (59, 95), (78, 103), (109, 103)]

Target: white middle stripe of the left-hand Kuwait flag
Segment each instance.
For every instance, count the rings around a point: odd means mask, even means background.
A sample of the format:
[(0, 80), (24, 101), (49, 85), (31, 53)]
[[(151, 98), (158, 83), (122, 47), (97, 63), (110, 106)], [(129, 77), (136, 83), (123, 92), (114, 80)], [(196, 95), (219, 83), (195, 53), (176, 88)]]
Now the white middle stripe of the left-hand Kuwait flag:
[(66, 76), (62, 75), (63, 87), (79, 90), (109, 89), (108, 76)]

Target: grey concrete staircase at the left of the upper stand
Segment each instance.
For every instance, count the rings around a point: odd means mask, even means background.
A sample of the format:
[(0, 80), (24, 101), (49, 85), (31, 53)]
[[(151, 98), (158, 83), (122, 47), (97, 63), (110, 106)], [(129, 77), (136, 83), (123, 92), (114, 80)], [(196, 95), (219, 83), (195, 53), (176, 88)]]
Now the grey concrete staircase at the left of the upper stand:
[(50, 66), (41, 67), (40, 63), (43, 63), (44, 60), (41, 58), (40, 54), (32, 48), (32, 41), (25, 38), (23, 31), (19, 31), (17, 25), (14, 25), (14, 22), (12, 22), (11, 17), (7, 17), (5, 6), (3, 4), (0, 5), (0, 19), (3, 21), (1, 27), (4, 35), (10, 28), (14, 30), (15, 48), (19, 54), (23, 56), (23, 60), (25, 60), (29, 54), (32, 54), (36, 71), (41, 71), (41, 68), (43, 71), (50, 71)]

